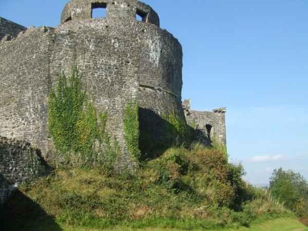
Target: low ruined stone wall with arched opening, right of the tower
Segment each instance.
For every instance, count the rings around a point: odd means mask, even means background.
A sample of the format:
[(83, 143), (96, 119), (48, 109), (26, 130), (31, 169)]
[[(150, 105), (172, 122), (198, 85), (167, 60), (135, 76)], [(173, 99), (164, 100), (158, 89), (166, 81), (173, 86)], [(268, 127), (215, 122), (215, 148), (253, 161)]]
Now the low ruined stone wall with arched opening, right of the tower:
[(226, 108), (213, 111), (195, 111), (190, 109), (190, 100), (183, 101), (187, 124), (195, 126), (196, 140), (204, 145), (211, 145), (213, 139), (226, 147)]

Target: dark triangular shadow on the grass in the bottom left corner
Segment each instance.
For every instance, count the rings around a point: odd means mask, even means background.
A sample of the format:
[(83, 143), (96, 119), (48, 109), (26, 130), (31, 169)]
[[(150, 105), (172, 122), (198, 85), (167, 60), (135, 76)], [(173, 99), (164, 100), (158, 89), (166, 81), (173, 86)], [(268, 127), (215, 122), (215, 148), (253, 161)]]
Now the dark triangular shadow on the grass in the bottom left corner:
[[(5, 180), (3, 175), (0, 178)], [(7, 184), (10, 184), (5, 180)], [(48, 198), (46, 198), (48, 200)], [(15, 189), (9, 199), (0, 206), (0, 230), (63, 230), (52, 216), (19, 189)]]

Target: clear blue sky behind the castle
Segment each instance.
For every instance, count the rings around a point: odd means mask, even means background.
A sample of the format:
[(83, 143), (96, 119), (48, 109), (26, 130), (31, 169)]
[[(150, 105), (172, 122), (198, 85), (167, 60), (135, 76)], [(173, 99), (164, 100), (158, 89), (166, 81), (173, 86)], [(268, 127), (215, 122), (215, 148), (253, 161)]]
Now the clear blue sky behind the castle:
[[(23, 26), (60, 24), (67, 0), (0, 0)], [(144, 0), (183, 46), (182, 99), (195, 110), (227, 107), (227, 148), (245, 179), (274, 168), (308, 180), (308, 1)]]

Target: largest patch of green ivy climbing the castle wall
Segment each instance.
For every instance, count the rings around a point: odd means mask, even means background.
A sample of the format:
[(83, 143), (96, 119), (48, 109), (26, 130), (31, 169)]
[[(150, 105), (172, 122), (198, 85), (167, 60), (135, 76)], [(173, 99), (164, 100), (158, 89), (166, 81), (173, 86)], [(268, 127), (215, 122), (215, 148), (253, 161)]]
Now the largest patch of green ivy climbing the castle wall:
[(82, 161), (83, 165), (114, 164), (120, 146), (115, 137), (112, 146), (105, 131), (107, 111), (98, 116), (93, 100), (87, 99), (82, 74), (75, 66), (68, 80), (64, 73), (59, 75), (56, 92), (50, 90), (48, 106), (49, 132), (55, 148), (67, 162), (73, 157), (75, 162)]

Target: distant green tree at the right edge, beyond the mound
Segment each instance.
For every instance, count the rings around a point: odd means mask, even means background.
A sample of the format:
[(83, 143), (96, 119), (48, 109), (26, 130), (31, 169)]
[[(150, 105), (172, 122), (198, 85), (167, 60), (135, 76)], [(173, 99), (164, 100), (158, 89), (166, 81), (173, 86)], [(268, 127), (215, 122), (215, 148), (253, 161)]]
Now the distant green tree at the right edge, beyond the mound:
[(303, 176), (293, 170), (274, 169), (269, 178), (269, 190), (272, 196), (284, 203), (299, 217), (307, 216), (303, 203), (308, 202), (308, 183)]

